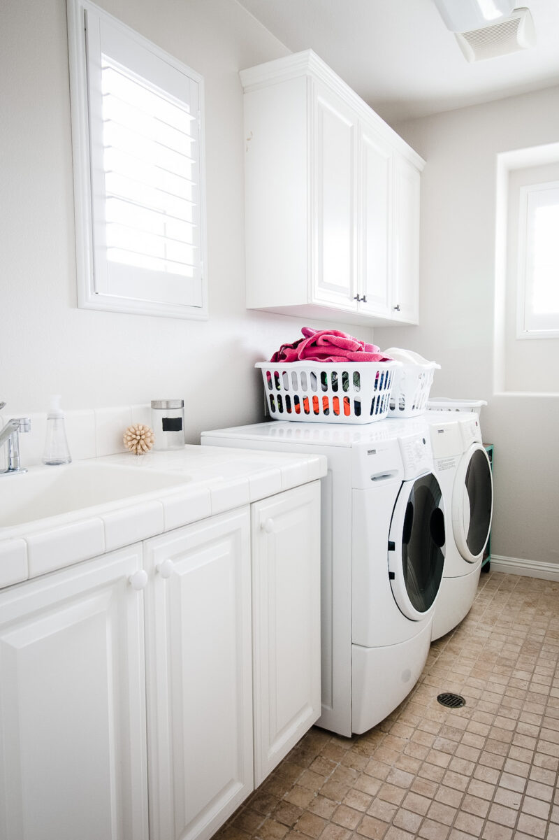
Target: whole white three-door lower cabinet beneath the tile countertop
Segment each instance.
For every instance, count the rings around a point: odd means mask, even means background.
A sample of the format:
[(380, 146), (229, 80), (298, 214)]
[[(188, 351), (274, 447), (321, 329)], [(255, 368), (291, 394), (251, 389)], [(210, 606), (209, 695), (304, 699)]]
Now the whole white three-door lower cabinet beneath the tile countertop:
[(320, 482), (0, 591), (0, 840), (207, 840), (320, 715)]

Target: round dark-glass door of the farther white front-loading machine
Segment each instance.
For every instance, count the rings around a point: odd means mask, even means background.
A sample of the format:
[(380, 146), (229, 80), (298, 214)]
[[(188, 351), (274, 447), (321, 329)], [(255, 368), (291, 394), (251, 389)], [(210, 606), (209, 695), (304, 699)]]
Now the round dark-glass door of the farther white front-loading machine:
[(452, 532), (465, 560), (478, 560), (493, 516), (493, 476), (483, 444), (473, 444), (457, 466), (452, 490)]

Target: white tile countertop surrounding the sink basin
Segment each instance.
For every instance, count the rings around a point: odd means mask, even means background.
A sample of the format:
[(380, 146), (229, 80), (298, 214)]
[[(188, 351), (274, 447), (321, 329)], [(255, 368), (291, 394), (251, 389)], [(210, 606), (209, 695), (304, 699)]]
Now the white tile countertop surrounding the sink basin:
[[(185, 446), (171, 452), (107, 455), (61, 467), (99, 464), (157, 470), (185, 484), (128, 496), (95, 507), (9, 527), (0, 525), (0, 587), (44, 575), (156, 534), (289, 490), (327, 473), (323, 455), (294, 455), (212, 446)], [(1, 478), (4, 488), (18, 476)], [(0, 487), (1, 489), (1, 487)]]

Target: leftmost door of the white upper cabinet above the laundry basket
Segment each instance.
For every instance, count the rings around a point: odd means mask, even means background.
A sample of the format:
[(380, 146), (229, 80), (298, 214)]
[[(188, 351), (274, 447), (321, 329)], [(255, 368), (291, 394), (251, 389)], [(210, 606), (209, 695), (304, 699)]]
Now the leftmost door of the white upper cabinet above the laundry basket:
[[(357, 309), (355, 218), (357, 119), (335, 93), (313, 84), (315, 265), (312, 297), (340, 309)], [(311, 202), (313, 199), (311, 198)]]

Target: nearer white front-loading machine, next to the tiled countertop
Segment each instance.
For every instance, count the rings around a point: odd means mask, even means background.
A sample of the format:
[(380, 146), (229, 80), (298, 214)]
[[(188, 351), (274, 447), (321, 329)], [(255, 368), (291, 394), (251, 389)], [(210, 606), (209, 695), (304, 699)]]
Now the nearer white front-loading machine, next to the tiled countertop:
[(421, 675), (441, 585), (444, 502), (426, 423), (273, 421), (201, 443), (327, 456), (318, 725), (347, 737), (374, 727)]

